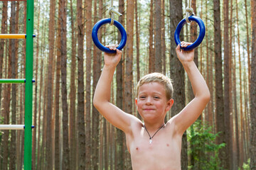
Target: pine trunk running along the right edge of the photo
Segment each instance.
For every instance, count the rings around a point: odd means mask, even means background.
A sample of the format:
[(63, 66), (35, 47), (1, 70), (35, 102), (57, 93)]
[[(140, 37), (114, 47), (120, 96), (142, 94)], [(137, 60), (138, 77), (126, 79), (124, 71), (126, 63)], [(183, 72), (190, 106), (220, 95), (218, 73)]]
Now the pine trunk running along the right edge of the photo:
[[(251, 0), (251, 15), (256, 16), (256, 2)], [(250, 169), (256, 169), (256, 18), (252, 17), (252, 64), (250, 77)]]

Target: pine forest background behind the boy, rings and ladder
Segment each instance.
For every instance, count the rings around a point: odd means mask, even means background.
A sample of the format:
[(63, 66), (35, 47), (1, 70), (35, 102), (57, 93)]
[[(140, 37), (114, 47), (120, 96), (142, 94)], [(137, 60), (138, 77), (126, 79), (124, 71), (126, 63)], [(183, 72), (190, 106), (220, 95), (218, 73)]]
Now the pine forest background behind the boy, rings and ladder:
[[(124, 134), (92, 106), (103, 65), (93, 45), (93, 25), (109, 18), (110, 0), (35, 1), (32, 169), (132, 169)], [(115, 16), (127, 30), (127, 45), (112, 83), (112, 103), (139, 117), (136, 85), (149, 72), (173, 80), (175, 104), (166, 120), (193, 98), (176, 58), (174, 31), (188, 1), (119, 0)], [(195, 62), (211, 100), (183, 135), (182, 169), (256, 169), (256, 2), (192, 0), (206, 36)], [(26, 33), (26, 1), (0, 3), (1, 34)], [(198, 36), (195, 23), (181, 40)], [(103, 26), (105, 45), (118, 43), (117, 28)], [(25, 40), (0, 42), (0, 78), (25, 77)], [(0, 84), (1, 124), (23, 124), (24, 85)], [(24, 133), (0, 133), (0, 169), (23, 169)]]

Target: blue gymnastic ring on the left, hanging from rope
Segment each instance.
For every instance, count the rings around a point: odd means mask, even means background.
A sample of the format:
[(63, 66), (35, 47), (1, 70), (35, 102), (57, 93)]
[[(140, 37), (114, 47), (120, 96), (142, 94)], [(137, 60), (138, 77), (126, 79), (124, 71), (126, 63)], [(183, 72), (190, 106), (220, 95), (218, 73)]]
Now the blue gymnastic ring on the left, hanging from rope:
[[(106, 23), (110, 23), (111, 22), (111, 18), (105, 18), (102, 19), (100, 21), (97, 21), (97, 23), (95, 23), (95, 26), (92, 28), (92, 40), (95, 43), (95, 45), (102, 51), (104, 52), (108, 52), (108, 53), (114, 53), (116, 52), (115, 50), (110, 50), (109, 48), (103, 46), (99, 39), (97, 38), (97, 32), (100, 29), (100, 27)], [(121, 23), (119, 23), (118, 21), (114, 20), (114, 26), (116, 26), (118, 28), (118, 30), (121, 33), (121, 41), (117, 47), (118, 50), (122, 50), (122, 48), (124, 47), (124, 45), (126, 44), (127, 41), (127, 33), (124, 30), (124, 27), (122, 26)]]

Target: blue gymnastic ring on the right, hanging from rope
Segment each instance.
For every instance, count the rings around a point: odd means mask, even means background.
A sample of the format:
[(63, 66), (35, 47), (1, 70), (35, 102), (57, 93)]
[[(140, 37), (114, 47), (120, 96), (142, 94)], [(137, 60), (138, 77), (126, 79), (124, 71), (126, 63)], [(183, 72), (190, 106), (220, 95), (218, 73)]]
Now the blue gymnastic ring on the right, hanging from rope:
[[(188, 45), (188, 47), (181, 47), (181, 50), (185, 50), (185, 51), (193, 50), (194, 48), (198, 47), (198, 45), (201, 44), (201, 42), (203, 41), (204, 36), (206, 35), (206, 27), (205, 27), (203, 21), (201, 20), (201, 18), (199, 18), (197, 16), (189, 16), (188, 20), (189, 21), (196, 21), (196, 23), (198, 23), (200, 33), (199, 33), (199, 36), (196, 39), (196, 41), (193, 42), (193, 44)], [(186, 23), (186, 18), (183, 18), (183, 20), (181, 20), (181, 22), (179, 22), (178, 26), (176, 27), (176, 30), (175, 30), (175, 33), (174, 33), (174, 40), (176, 42), (176, 45), (181, 45), (181, 40), (179, 39), (179, 35), (181, 33), (181, 28), (183, 28), (185, 23)]]

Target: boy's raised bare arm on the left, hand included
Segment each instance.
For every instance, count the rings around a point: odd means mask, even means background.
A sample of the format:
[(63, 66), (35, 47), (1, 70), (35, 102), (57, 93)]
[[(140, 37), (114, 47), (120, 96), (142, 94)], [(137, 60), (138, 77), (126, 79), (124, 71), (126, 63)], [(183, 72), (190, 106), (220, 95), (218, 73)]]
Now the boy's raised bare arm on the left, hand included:
[[(117, 50), (115, 46), (110, 46), (110, 50)], [(104, 54), (105, 65), (102, 69), (102, 74), (95, 89), (93, 105), (97, 110), (115, 127), (120, 130), (129, 132), (131, 120), (135, 117), (124, 113), (121, 109), (110, 103), (111, 82), (114, 75), (114, 70), (122, 56), (122, 51), (117, 50), (117, 53)]]

